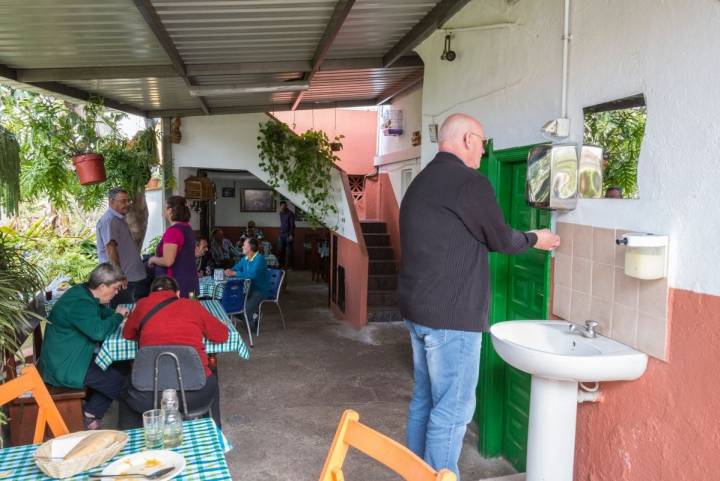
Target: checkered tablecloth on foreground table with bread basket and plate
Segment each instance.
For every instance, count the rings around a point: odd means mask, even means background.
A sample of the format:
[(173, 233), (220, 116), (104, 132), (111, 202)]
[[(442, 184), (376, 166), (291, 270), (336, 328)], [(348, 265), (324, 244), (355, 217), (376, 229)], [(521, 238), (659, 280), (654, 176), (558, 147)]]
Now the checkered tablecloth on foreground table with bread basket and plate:
[[(105, 466), (122, 456), (138, 453), (145, 449), (142, 429), (127, 431), (128, 442), (120, 453), (107, 463), (93, 468), (102, 471)], [(232, 479), (225, 460), (229, 446), (222, 432), (210, 418), (185, 421), (183, 423), (182, 446), (173, 451), (185, 457), (185, 470), (175, 480), (222, 481)], [(0, 479), (3, 481), (49, 480), (35, 465), (33, 452), (37, 445), (28, 444), (14, 448), (0, 449)], [(66, 480), (88, 479), (87, 474), (78, 474)]]

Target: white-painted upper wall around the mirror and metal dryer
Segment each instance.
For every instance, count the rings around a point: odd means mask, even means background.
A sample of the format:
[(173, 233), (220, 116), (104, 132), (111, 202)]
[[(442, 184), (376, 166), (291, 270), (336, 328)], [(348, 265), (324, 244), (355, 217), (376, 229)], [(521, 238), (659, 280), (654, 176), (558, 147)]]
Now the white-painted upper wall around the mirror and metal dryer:
[[(582, 108), (643, 92), (648, 106), (639, 200), (580, 200), (565, 222), (626, 228), (671, 239), (675, 288), (720, 295), (720, 2), (576, 0), (571, 13), (571, 141)], [(446, 27), (517, 22), (457, 32), (455, 62), (440, 60), (443, 33), (418, 48), (425, 61), (423, 129), (453, 112), (485, 123), (495, 147), (543, 141), (560, 114), (561, 0), (473, 1)], [(425, 165), (437, 144), (423, 142)]]

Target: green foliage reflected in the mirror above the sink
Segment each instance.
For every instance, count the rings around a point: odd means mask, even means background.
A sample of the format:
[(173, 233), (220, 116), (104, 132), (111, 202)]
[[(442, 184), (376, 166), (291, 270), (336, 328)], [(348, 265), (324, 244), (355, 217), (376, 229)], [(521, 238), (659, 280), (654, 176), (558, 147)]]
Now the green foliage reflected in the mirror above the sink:
[(638, 197), (638, 159), (646, 118), (646, 107), (585, 114), (584, 142), (601, 146), (607, 157), (603, 190), (619, 187), (623, 198)]

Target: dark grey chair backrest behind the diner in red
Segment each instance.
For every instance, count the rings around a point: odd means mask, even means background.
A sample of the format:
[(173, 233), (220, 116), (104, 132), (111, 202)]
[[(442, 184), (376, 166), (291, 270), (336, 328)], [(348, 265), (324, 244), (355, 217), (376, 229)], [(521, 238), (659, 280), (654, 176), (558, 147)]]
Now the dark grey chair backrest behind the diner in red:
[[(163, 356), (163, 353), (174, 354), (180, 365), (178, 373), (175, 359)], [(159, 356), (159, 357), (158, 357)], [(138, 349), (133, 363), (131, 382), (138, 391), (153, 391), (155, 389), (155, 367), (157, 361), (157, 389), (180, 389), (180, 375), (182, 385), (186, 391), (197, 391), (205, 386), (207, 378), (205, 368), (200, 356), (191, 346), (145, 346)]]

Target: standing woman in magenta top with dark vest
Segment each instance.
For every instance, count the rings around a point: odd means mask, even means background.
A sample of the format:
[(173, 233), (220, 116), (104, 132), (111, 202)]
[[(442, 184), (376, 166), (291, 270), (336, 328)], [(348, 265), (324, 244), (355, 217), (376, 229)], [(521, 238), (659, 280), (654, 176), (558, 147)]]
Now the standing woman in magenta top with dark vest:
[(190, 227), (190, 209), (185, 197), (173, 195), (165, 201), (165, 218), (170, 227), (157, 246), (157, 255), (148, 259), (156, 276), (169, 276), (180, 286), (180, 295), (188, 297), (200, 291), (195, 264), (195, 233)]

